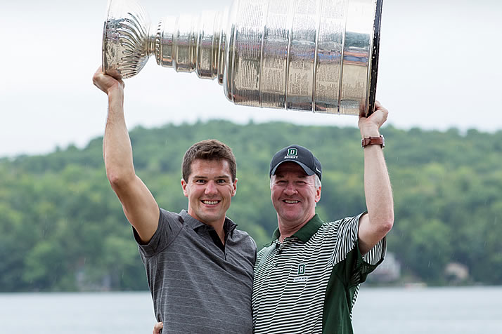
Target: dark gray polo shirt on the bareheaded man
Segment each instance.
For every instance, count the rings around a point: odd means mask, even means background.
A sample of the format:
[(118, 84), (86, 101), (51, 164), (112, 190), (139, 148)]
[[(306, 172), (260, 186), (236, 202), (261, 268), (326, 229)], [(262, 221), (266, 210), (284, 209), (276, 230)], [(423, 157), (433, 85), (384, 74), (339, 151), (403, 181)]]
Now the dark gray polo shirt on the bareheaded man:
[(147, 244), (133, 229), (162, 333), (252, 333), (256, 243), (236, 226), (226, 218), (218, 245), (209, 225), (161, 208)]

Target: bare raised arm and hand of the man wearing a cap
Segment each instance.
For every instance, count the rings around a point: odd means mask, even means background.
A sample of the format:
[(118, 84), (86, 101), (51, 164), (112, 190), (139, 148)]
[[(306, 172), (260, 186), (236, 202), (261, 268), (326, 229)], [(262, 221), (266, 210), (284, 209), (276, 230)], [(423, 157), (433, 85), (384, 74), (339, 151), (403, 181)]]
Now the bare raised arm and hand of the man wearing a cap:
[[(361, 137), (378, 138), (380, 126), (387, 120), (388, 111), (380, 102), (375, 103), (375, 112), (368, 118), (359, 117)], [(389, 173), (383, 156), (382, 145), (364, 147), (364, 194), (368, 214), (359, 221), (359, 249), (368, 253), (394, 224), (394, 201)]]

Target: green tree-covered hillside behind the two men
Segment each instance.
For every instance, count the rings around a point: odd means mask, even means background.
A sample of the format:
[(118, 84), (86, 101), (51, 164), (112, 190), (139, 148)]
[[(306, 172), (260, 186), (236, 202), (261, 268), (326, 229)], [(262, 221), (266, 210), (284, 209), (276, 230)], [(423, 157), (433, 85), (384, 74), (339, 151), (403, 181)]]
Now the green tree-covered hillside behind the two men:
[[(446, 264), (470, 282), (502, 283), (502, 131), (382, 129), (394, 191), (388, 251), (404, 277), (448, 283)], [(309, 147), (323, 164), (317, 212), (325, 221), (366, 208), (359, 129), (207, 121), (130, 131), (136, 173), (162, 208), (186, 208), (181, 159), (217, 138), (238, 161), (229, 217), (259, 246), (276, 228), (269, 161), (286, 145)], [(79, 149), (0, 159), (0, 291), (143, 290), (146, 275), (131, 227), (105, 175), (102, 138)]]

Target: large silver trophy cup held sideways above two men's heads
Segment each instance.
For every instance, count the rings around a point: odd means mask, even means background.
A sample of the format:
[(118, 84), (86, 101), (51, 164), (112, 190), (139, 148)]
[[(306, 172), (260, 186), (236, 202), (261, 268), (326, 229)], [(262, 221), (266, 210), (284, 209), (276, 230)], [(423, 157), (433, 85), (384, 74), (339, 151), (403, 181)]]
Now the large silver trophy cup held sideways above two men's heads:
[(129, 78), (153, 55), (217, 78), (236, 105), (368, 116), (381, 13), (382, 0), (234, 0), (150, 25), (138, 1), (108, 0), (103, 70)]

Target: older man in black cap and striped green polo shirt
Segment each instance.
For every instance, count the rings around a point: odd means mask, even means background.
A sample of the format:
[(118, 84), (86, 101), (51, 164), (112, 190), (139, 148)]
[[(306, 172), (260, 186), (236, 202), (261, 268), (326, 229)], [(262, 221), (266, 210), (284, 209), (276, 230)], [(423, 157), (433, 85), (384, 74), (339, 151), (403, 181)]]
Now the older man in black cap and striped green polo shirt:
[(318, 159), (299, 145), (273, 156), (269, 175), (278, 228), (255, 265), (255, 333), (353, 333), (359, 283), (382, 262), (394, 222), (379, 132), (387, 110), (378, 102), (376, 107), (359, 119), (367, 213), (323, 222), (315, 210), (321, 199)]

